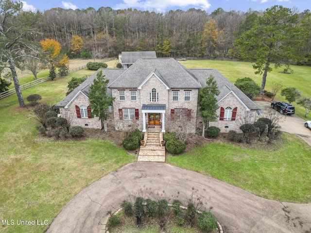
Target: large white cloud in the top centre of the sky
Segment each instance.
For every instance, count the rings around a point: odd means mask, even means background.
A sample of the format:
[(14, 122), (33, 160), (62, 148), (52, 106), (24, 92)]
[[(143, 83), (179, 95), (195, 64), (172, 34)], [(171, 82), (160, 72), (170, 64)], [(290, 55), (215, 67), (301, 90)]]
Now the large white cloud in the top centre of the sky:
[(197, 8), (201, 8), (204, 10), (207, 10), (211, 6), (208, 0), (123, 0), (123, 3), (117, 4), (115, 8), (142, 8), (145, 10), (155, 9), (157, 11), (163, 12), (169, 7), (175, 6), (184, 8), (190, 5), (196, 6)]

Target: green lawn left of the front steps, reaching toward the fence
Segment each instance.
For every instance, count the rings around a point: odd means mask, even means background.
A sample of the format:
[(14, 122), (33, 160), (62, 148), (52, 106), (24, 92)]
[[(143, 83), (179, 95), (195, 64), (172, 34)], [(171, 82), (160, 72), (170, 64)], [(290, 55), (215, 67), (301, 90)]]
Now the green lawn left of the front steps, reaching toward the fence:
[[(94, 72), (94, 71), (93, 71)], [(72, 73), (72, 75), (79, 75)], [(65, 97), (70, 77), (24, 90), (55, 104)], [(40, 139), (33, 107), (19, 108), (17, 96), (0, 100), (0, 219), (53, 218), (79, 191), (121, 166), (136, 161), (112, 142)], [(47, 226), (1, 226), (0, 232), (41, 233)]]

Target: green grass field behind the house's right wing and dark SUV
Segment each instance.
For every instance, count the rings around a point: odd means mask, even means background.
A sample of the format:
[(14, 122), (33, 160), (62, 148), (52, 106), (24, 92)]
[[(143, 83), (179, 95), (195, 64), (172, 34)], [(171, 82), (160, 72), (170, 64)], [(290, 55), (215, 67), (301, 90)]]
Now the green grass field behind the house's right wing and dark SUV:
[[(210, 60), (188, 60), (180, 62), (187, 68), (213, 68), (217, 69), (229, 81), (234, 83), (239, 78), (250, 77), (256, 83), (261, 85), (262, 75), (256, 75), (255, 69), (250, 62), (231, 62), (231, 61), (210, 61)], [(273, 65), (274, 66), (274, 65)], [(291, 66), (294, 70), (292, 74), (284, 74), (283, 67), (275, 69), (268, 73), (265, 90), (271, 91), (273, 82), (282, 83), (284, 87), (296, 87), (302, 96), (311, 98), (311, 67), (307, 66)], [(276, 95), (276, 101), (287, 101), (280, 92)], [(305, 109), (293, 102), (295, 106), (295, 115), (303, 118), (304, 120), (311, 120), (311, 114), (305, 118)]]

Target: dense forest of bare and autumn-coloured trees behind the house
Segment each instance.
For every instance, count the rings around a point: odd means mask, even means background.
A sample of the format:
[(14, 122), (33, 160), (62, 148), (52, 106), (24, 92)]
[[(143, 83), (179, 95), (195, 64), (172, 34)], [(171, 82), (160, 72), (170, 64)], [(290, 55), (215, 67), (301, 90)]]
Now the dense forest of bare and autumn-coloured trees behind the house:
[[(299, 13), (295, 8), (292, 11)], [(110, 7), (52, 8), (42, 13), (37, 25), (42, 38), (35, 40), (54, 39), (69, 57), (115, 57), (121, 51), (155, 50), (158, 57), (239, 58), (234, 41), (262, 14), (222, 8), (210, 14), (194, 8), (165, 14)], [(298, 22), (298, 27), (311, 34), (309, 10), (299, 13)], [(83, 48), (73, 53), (70, 46), (75, 35), (83, 40)], [(311, 57), (310, 36), (304, 38), (295, 55)]]

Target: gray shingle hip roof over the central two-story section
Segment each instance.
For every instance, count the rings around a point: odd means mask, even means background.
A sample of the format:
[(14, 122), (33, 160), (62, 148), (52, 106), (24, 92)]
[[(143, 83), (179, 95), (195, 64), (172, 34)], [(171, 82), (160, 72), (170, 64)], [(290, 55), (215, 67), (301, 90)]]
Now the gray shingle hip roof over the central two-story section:
[(201, 88), (196, 77), (173, 58), (140, 58), (108, 87), (137, 88), (152, 72), (170, 88)]

